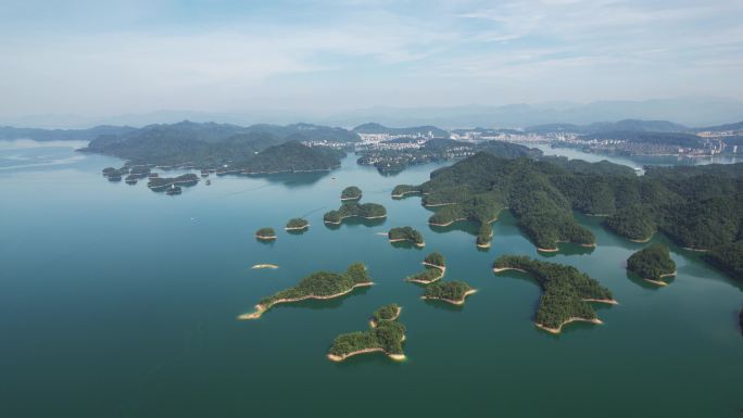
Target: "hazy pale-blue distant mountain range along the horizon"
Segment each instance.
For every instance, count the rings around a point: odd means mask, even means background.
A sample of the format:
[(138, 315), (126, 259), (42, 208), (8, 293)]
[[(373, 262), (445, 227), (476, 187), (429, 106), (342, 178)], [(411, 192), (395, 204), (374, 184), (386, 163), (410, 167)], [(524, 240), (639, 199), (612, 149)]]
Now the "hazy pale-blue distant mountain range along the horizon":
[(108, 117), (78, 115), (32, 115), (0, 117), (0, 125), (41, 128), (80, 128), (95, 125), (142, 127), (172, 124), (179, 121), (219, 121), (234, 125), (256, 123), (291, 124), (306, 121), (318, 125), (351, 128), (369, 121), (402, 126), (438, 126), (446, 129), (524, 128), (527, 126), (566, 123), (589, 125), (602, 121), (654, 119), (673, 121), (689, 127), (721, 125), (743, 119), (743, 100), (687, 97), (642, 101), (596, 101), (591, 103), (549, 102), (506, 105), (457, 105), (449, 107), (377, 106), (342, 112), (251, 110), (244, 112), (194, 112), (165, 110)]

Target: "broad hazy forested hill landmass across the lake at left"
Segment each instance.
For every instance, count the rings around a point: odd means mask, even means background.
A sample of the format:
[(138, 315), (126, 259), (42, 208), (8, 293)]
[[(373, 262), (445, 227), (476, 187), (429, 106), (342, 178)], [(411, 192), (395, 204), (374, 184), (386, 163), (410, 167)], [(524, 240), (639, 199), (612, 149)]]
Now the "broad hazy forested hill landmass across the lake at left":
[(344, 152), (306, 144), (353, 143), (356, 134), (327, 126), (237, 125), (181, 122), (140, 129), (110, 130), (79, 151), (117, 156), (128, 165), (158, 165), (217, 170), (219, 174), (266, 174), (329, 170)]

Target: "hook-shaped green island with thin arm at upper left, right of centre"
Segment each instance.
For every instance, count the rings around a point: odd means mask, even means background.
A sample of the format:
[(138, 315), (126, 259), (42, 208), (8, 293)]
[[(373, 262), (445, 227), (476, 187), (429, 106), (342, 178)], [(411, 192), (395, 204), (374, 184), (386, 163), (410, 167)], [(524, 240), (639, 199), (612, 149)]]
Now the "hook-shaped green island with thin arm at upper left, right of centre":
[(596, 279), (572, 266), (540, 262), (528, 256), (502, 255), (493, 263), (493, 271), (516, 270), (533, 277), (542, 288), (534, 324), (559, 333), (563, 326), (574, 321), (602, 324), (591, 302), (616, 305), (612, 291)]

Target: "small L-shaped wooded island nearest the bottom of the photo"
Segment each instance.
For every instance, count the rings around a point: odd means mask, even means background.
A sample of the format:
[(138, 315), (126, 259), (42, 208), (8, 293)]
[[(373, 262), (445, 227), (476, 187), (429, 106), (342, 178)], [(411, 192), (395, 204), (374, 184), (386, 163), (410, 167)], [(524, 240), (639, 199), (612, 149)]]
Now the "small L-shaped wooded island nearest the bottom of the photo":
[[(372, 322), (368, 331), (357, 331), (343, 333), (332, 341), (328, 350), (328, 359), (342, 362), (351, 356), (365, 353), (381, 352), (393, 360), (402, 362), (405, 359), (402, 342), (405, 341), (405, 326), (398, 321), (400, 306), (395, 304), (385, 305), (375, 312), (387, 315), (389, 319), (381, 319), (376, 324)], [(382, 314), (383, 313), (383, 314)], [(390, 314), (395, 314), (390, 317)]]

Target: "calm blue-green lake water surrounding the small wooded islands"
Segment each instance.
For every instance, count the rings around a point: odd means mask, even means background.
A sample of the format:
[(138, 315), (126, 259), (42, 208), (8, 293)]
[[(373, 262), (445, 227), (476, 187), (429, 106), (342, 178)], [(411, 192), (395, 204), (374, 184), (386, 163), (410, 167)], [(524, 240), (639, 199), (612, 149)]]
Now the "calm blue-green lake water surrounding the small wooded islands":
[[(178, 197), (111, 183), (100, 174), (109, 165), (121, 162), (64, 144), (0, 148), (2, 417), (741, 416), (743, 292), (696, 253), (671, 245), (678, 276), (656, 289), (624, 267), (643, 245), (600, 218), (579, 217), (595, 250), (545, 256), (508, 214), (478, 251), (473, 225), (433, 231), (418, 198), (390, 198), (436, 165), (383, 177), (350, 156), (330, 175), (219, 177)], [(388, 218), (324, 226), (350, 185)], [(312, 224), (306, 233), (280, 230), (295, 216)], [(425, 250), (378, 235), (405, 225), (424, 233)], [(253, 238), (264, 226), (276, 242)], [(479, 290), (464, 307), (424, 302), (403, 281), (430, 251), (446, 257), (446, 279)], [(493, 275), (501, 254), (577, 266), (620, 305), (599, 307), (601, 326), (540, 331), (539, 287)], [(312, 271), (355, 261), (376, 286), (236, 319)], [(279, 268), (250, 268), (260, 263)], [(403, 306), (406, 362), (326, 359), (338, 333), (366, 329), (391, 302)]]

